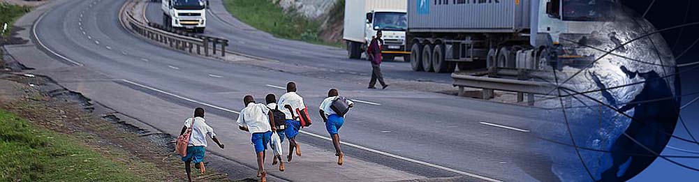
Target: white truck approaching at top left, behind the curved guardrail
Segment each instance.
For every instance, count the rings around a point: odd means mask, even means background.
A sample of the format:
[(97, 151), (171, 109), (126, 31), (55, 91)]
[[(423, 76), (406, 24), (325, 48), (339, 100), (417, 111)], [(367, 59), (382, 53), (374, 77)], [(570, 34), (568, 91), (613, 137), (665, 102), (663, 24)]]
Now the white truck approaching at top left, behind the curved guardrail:
[(162, 0), (163, 25), (203, 33), (206, 29), (206, 0)]

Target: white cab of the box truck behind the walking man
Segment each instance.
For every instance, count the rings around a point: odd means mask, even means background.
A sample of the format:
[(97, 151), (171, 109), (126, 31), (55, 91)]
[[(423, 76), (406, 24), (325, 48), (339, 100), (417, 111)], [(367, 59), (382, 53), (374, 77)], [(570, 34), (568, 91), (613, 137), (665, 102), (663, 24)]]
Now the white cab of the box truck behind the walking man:
[(396, 56), (410, 54), (405, 52), (405, 31), (408, 30), (407, 14), (405, 10), (390, 9), (372, 10), (366, 13), (366, 26), (364, 26), (366, 44), (363, 50), (366, 50), (376, 32), (381, 30), (384, 40), (381, 53), (384, 60), (392, 61)]

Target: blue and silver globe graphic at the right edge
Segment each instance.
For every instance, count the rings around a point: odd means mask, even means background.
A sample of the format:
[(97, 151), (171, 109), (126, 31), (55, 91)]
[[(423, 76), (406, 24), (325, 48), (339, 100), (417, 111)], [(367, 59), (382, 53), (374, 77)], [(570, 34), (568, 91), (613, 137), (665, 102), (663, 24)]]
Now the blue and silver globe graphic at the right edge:
[[(563, 181), (626, 181), (658, 158), (679, 116), (675, 58), (652, 24), (633, 10), (612, 8), (591, 34), (561, 35), (563, 53), (540, 69), (561, 84), (545, 103), (553, 123), (532, 124)], [(553, 101), (553, 102), (550, 102)], [(564, 146), (561, 146), (563, 144)]]

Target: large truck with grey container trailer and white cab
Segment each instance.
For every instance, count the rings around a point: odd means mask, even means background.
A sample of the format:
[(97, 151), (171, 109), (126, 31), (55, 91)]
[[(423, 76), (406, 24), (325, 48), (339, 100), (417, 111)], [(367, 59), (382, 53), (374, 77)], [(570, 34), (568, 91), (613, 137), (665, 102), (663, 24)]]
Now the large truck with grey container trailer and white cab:
[(415, 71), (537, 69), (547, 56), (565, 54), (559, 46), (561, 35), (590, 34), (602, 26), (612, 3), (412, 0), (408, 2), (406, 51), (411, 53)]

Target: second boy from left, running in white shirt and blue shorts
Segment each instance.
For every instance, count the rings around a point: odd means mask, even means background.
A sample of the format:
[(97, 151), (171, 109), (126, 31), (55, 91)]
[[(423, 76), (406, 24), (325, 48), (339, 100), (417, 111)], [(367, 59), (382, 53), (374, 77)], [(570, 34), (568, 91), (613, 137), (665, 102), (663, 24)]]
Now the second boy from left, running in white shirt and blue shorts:
[(238, 114), (238, 128), (252, 134), (251, 141), (257, 155), (257, 177), (261, 181), (267, 181), (264, 159), (272, 132), (276, 131), (271, 127), (274, 123), (274, 116), (266, 105), (255, 103), (252, 96), (245, 96), (243, 103), (245, 103), (245, 108), (241, 109), (240, 114)]

